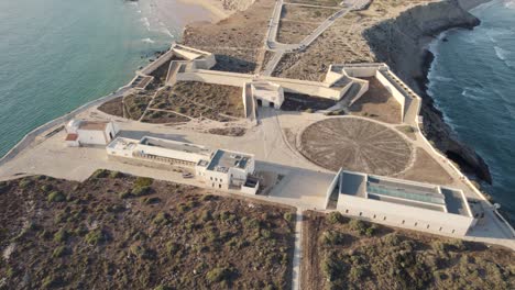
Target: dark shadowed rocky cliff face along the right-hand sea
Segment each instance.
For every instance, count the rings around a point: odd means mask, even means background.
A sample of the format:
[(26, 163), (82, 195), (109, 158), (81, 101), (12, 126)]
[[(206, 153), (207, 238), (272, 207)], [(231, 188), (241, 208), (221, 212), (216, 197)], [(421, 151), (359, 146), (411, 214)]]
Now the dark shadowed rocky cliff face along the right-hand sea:
[(468, 9), (485, 0), (448, 0), (418, 5), (396, 19), (366, 30), (364, 36), (375, 57), (388, 66), (423, 97), (424, 133), (438, 149), (458, 163), (462, 169), (492, 182), (487, 165), (474, 149), (462, 144), (442, 120), (426, 93), (427, 71), (432, 62), (428, 44), (441, 32), (452, 27), (473, 29), (480, 20)]

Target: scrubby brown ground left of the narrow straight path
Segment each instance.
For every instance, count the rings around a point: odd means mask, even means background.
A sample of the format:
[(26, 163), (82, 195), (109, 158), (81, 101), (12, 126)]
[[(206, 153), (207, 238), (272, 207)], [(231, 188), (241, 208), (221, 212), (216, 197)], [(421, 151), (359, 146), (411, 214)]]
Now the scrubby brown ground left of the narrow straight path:
[(0, 183), (1, 289), (287, 289), (295, 210), (97, 171)]

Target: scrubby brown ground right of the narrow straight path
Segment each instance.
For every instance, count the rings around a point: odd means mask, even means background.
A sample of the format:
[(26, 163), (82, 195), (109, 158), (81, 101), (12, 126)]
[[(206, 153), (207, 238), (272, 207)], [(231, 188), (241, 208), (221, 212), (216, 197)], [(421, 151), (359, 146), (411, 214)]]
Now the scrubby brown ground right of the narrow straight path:
[(304, 213), (302, 289), (514, 289), (498, 246)]

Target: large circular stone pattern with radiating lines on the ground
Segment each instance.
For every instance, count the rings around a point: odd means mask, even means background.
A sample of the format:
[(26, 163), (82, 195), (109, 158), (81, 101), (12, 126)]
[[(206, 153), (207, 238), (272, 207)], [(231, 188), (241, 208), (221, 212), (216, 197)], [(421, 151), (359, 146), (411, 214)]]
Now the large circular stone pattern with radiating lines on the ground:
[(333, 118), (309, 125), (300, 136), (300, 153), (333, 171), (343, 168), (382, 176), (403, 171), (412, 158), (412, 147), (401, 134), (357, 118)]

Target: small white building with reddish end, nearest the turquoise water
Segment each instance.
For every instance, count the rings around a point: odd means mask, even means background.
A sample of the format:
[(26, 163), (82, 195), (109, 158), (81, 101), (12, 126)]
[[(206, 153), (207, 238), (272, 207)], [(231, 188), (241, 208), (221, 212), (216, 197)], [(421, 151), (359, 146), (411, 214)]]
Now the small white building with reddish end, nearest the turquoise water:
[(118, 134), (113, 122), (72, 120), (66, 125), (66, 145), (78, 147), (84, 145), (107, 145)]

